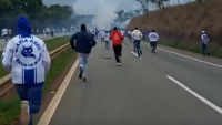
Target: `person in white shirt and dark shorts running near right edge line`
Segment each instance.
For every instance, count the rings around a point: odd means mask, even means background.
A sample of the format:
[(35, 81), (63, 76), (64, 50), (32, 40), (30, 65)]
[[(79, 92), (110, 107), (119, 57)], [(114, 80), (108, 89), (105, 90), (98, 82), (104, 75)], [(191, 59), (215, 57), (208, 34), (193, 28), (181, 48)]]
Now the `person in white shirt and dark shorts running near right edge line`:
[(148, 39), (150, 41), (150, 46), (152, 48), (152, 53), (155, 53), (159, 35), (158, 33), (152, 30), (151, 33), (149, 33)]

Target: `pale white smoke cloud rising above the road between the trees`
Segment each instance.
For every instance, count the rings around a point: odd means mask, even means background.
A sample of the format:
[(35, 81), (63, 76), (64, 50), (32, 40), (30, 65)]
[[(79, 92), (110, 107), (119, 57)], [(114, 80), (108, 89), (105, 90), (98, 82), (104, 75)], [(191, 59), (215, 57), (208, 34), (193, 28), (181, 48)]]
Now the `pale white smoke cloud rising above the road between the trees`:
[(98, 28), (110, 28), (118, 18), (115, 12), (137, 8), (139, 3), (135, 0), (75, 0), (73, 3), (74, 13), (94, 15), (92, 24)]

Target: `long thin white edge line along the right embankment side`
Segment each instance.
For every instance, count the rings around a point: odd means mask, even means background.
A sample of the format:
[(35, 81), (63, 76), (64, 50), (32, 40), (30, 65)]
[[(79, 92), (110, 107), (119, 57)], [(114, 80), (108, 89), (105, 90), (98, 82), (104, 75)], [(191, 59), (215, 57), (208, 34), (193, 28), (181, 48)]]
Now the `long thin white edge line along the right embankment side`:
[[(143, 44), (149, 45), (147, 43), (143, 43)], [(198, 61), (198, 62), (202, 62), (202, 63), (210, 64), (210, 65), (218, 66), (218, 67), (222, 69), (222, 65), (219, 65), (219, 64), (214, 64), (214, 63), (210, 63), (210, 62), (206, 62), (206, 61), (202, 61), (202, 60), (199, 60), (199, 59), (195, 59), (195, 58), (191, 58), (191, 56), (188, 56), (188, 55), (184, 55), (184, 54), (180, 54), (180, 53), (176, 53), (176, 52), (173, 52), (173, 51), (169, 51), (169, 50), (165, 50), (165, 49), (162, 49), (162, 48), (158, 48), (158, 49), (160, 49), (162, 51), (165, 51), (165, 52), (169, 52), (169, 53), (173, 53), (173, 54), (186, 58), (186, 59), (191, 59), (191, 60), (194, 60), (194, 61)]]

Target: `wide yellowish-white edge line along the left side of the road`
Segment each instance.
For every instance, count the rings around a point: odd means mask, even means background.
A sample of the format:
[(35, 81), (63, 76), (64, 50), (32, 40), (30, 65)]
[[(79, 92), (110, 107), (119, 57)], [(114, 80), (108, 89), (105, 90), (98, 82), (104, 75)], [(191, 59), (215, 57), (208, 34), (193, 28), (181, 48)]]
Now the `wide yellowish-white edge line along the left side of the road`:
[(39, 123), (37, 125), (49, 125), (61, 98), (64, 94), (72, 75), (74, 74), (75, 69), (78, 67), (79, 61), (77, 60), (72, 65), (71, 70), (69, 71), (68, 75), (65, 76), (64, 81), (60, 85), (58, 92), (56, 93), (54, 97), (51, 100), (50, 104), (48, 105), (47, 110), (44, 111), (43, 115), (41, 116)]

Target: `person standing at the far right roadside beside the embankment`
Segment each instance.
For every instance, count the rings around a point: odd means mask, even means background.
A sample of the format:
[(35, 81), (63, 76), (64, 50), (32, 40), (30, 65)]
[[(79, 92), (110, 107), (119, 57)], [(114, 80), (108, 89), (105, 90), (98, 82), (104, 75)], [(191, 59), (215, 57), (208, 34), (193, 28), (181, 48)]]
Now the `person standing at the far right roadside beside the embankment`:
[(203, 56), (210, 55), (209, 50), (208, 50), (208, 43), (209, 42), (210, 42), (209, 35), (206, 34), (205, 31), (202, 31), (201, 43), (202, 43), (202, 53), (203, 53)]

